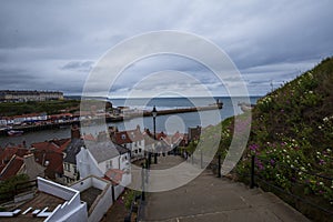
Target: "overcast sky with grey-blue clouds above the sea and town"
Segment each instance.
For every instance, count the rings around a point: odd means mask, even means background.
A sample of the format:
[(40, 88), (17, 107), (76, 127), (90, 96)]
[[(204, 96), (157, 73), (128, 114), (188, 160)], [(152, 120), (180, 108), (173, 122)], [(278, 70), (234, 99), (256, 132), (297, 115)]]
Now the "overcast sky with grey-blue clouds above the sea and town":
[[(0, 4), (0, 90), (80, 94), (89, 72), (108, 50), (159, 30), (191, 32), (214, 42), (240, 70), (252, 95), (265, 94), (271, 82), (278, 88), (333, 56), (331, 0), (3, 0)], [(202, 64), (157, 56), (127, 69), (111, 95), (127, 97), (134, 85), (137, 97), (174, 88), (200, 95), (195, 84), (168, 74), (161, 74), (165, 81), (150, 78), (142, 84), (144, 78), (164, 70), (192, 75), (214, 95), (226, 93)]]

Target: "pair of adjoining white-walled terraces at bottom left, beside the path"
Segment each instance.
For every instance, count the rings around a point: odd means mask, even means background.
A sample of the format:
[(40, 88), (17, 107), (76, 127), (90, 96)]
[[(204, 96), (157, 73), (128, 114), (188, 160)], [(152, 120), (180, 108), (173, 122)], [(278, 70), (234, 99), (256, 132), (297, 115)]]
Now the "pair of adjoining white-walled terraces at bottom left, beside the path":
[(100, 221), (120, 192), (110, 181), (94, 175), (71, 188), (38, 178), (38, 190), (16, 196), (16, 208), (0, 212), (0, 221), (95, 222)]

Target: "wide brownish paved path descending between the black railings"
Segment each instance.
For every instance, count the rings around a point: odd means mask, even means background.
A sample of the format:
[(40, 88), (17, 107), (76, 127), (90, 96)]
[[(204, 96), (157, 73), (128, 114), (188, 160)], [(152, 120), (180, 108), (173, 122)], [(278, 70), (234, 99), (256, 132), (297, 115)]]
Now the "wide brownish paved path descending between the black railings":
[[(165, 169), (182, 160), (161, 157), (152, 169)], [(169, 175), (172, 181), (172, 175)], [(204, 171), (190, 183), (172, 191), (149, 193), (144, 221), (309, 221), (272, 193), (250, 190), (242, 183), (218, 179)]]

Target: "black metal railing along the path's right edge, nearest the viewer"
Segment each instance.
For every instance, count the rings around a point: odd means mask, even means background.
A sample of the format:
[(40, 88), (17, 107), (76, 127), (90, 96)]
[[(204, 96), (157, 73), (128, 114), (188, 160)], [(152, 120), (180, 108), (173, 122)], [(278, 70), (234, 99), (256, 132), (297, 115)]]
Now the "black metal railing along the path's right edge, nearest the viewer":
[[(261, 170), (259, 169), (259, 167), (256, 164), (258, 161), (261, 161), (261, 163), (264, 163), (263, 168), (270, 165), (270, 168), (274, 168), (275, 170), (292, 169), (291, 171), (295, 175), (297, 175), (299, 173), (307, 174), (313, 178), (317, 178), (322, 181), (325, 181), (325, 183), (330, 184), (330, 185), (333, 184), (333, 178), (316, 174), (316, 173), (305, 171), (305, 170), (302, 170), (302, 169), (299, 169), (295, 167), (291, 168), (291, 165), (284, 164), (281, 162), (274, 162), (274, 164), (272, 165), (272, 162), (270, 162), (271, 160), (266, 160), (264, 158), (256, 157), (256, 155), (251, 157), (251, 165), (250, 165), (249, 173), (236, 172), (239, 175), (241, 175), (243, 178), (250, 178), (249, 183), (250, 183), (251, 189), (253, 189), (254, 186), (261, 186), (264, 190), (274, 192), (276, 195), (282, 198), (289, 204), (296, 208), (299, 211), (301, 211), (303, 214), (305, 214), (310, 219), (319, 220), (317, 216), (320, 218), (321, 221), (322, 220), (330, 221), (333, 219), (333, 206), (332, 205), (330, 206), (330, 203), (327, 203), (327, 205), (323, 206), (322, 204), (319, 204), (317, 201), (315, 201), (314, 194), (313, 194), (313, 196), (310, 196), (306, 194), (300, 195), (300, 193), (301, 193), (300, 190), (301, 189), (304, 190), (304, 188), (306, 186), (306, 183), (304, 183), (302, 180), (297, 180), (297, 176), (294, 176), (294, 178), (287, 176), (290, 180), (289, 182), (291, 184), (291, 188), (290, 189), (281, 188), (281, 186), (274, 184), (274, 182), (272, 180), (268, 180), (261, 175)], [(280, 172), (280, 171), (278, 171), (278, 172)], [(295, 194), (294, 193), (295, 191), (297, 191), (299, 194)], [(333, 202), (333, 200), (331, 200), (331, 201)], [(314, 214), (316, 214), (316, 215), (314, 216)]]

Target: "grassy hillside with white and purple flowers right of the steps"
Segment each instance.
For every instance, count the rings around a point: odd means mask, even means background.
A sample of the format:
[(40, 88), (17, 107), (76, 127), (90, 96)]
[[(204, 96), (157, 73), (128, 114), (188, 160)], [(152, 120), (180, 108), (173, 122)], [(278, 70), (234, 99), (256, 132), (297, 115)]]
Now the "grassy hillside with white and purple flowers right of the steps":
[[(248, 121), (249, 113), (243, 115)], [(231, 118), (222, 123), (222, 154), (229, 149), (233, 122)], [(248, 148), (235, 172), (249, 174), (252, 154), (255, 171), (265, 182), (333, 212), (333, 181), (325, 179), (333, 178), (333, 58), (258, 101)], [(249, 181), (249, 175), (240, 180)], [(330, 220), (300, 201), (276, 194), (314, 220)]]

